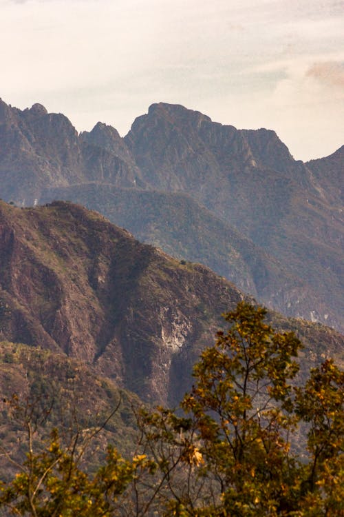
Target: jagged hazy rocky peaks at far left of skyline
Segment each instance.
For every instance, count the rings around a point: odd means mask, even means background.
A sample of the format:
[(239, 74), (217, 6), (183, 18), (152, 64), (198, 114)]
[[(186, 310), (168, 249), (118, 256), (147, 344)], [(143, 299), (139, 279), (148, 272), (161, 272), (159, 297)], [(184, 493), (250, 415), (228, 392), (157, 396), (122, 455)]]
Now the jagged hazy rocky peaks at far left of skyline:
[(1, 196), (25, 206), (38, 200), (44, 187), (87, 181), (135, 186), (140, 173), (117, 140), (118, 153), (109, 152), (87, 143), (63, 114), (48, 114), (40, 104), (21, 111), (0, 101)]

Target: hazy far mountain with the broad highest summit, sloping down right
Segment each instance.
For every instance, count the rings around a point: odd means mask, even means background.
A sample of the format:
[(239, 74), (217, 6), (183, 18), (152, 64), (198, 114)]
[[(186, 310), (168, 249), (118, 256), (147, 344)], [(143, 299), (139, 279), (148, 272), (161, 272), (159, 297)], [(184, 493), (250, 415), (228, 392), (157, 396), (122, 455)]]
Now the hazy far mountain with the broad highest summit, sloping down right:
[[(186, 192), (235, 226), (309, 283), (343, 328), (343, 212), (275, 132), (235, 130), (160, 103), (136, 119), (125, 141), (144, 181)], [(315, 305), (314, 316), (326, 321)]]

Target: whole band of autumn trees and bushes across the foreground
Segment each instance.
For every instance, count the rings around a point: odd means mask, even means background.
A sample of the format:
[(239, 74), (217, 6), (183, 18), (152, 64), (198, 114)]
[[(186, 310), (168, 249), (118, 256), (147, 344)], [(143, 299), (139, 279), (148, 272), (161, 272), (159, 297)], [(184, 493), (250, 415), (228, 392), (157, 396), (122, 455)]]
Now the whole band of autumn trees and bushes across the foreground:
[[(77, 426), (63, 434), (54, 429), (42, 447), (36, 434), (45, 417), (18, 398), (9, 401), (22, 418), (28, 449), (17, 475), (1, 485), (3, 511), (37, 517), (343, 515), (343, 372), (326, 360), (295, 387), (299, 339), (273, 330), (266, 310), (248, 303), (224, 316), (229, 330), (218, 332), (202, 353), (178, 411), (136, 409), (138, 438), (125, 457), (109, 445), (100, 465), (92, 465), (93, 443), (106, 420), (86, 434)], [(12, 459), (10, 451), (2, 454)]]

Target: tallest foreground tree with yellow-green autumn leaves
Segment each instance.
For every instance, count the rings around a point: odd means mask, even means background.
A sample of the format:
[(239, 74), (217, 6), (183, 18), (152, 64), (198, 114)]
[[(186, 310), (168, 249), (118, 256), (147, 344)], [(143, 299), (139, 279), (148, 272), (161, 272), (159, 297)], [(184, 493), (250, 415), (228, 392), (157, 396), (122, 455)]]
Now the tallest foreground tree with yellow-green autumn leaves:
[(182, 406), (195, 417), (208, 472), (220, 480), (222, 505), (233, 515), (265, 515), (282, 503), (290, 475), (290, 414), (300, 347), (292, 333), (264, 323), (266, 311), (241, 303), (195, 366), (197, 383)]

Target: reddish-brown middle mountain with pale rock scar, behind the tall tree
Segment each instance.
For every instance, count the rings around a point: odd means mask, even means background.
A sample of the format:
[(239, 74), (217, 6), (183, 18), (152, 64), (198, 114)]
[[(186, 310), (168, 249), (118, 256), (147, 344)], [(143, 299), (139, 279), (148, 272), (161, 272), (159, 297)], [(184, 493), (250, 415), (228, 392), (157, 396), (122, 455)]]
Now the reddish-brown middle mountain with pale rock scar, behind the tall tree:
[[(197, 357), (223, 327), (220, 314), (244, 298), (207, 267), (177, 261), (64, 202), (0, 203), (0, 272), (2, 341), (69, 357), (150, 403), (180, 400)], [(302, 371), (325, 356), (343, 364), (341, 334), (269, 317), (305, 341)]]

